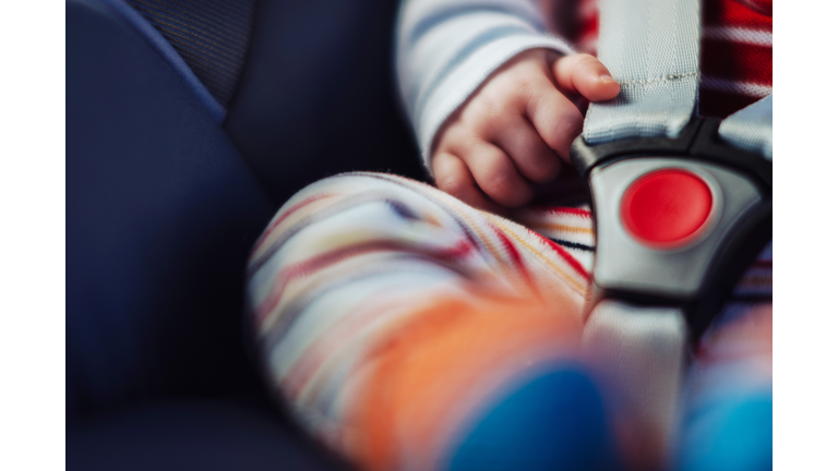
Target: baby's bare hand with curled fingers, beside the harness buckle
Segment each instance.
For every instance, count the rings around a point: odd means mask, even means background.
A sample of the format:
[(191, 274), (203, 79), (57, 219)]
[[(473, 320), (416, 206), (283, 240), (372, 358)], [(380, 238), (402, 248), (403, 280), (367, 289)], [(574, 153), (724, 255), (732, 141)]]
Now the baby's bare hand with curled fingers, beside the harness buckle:
[(546, 49), (518, 55), (440, 129), (431, 157), (436, 185), (489, 210), (526, 204), (532, 182), (554, 179), (560, 156), (570, 161), (583, 122), (574, 100), (601, 101), (619, 93), (592, 56), (559, 58)]

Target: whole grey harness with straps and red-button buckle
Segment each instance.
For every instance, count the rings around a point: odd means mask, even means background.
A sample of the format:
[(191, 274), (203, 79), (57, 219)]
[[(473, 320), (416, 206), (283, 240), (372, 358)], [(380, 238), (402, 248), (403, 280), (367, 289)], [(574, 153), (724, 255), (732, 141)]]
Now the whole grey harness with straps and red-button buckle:
[(571, 149), (597, 238), (583, 343), (639, 468), (666, 467), (690, 338), (770, 238), (771, 98), (721, 126), (696, 117), (699, 8), (600, 0), (599, 58), (621, 92), (589, 106)]

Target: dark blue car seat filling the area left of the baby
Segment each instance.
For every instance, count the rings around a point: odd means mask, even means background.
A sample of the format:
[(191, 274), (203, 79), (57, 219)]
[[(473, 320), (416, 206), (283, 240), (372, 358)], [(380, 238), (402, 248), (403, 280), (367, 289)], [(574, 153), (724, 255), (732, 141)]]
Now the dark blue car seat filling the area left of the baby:
[(396, 2), (68, 0), (68, 469), (344, 469), (273, 406), (242, 331), (279, 205), (423, 178)]

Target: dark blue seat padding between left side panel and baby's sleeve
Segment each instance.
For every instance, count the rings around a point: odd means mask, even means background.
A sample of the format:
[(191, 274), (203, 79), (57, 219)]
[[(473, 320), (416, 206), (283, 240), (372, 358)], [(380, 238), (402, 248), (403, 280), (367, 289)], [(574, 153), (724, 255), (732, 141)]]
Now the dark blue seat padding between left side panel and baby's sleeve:
[(422, 180), (397, 107), (393, 0), (262, 1), (225, 130), (276, 203), (351, 170)]

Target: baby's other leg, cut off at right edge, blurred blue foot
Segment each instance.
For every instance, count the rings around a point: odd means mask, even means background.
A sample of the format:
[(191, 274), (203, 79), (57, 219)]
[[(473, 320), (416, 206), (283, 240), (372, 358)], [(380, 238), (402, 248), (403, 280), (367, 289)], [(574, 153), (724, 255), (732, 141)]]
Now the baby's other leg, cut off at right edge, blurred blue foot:
[(704, 336), (687, 378), (679, 469), (770, 470), (770, 245)]

